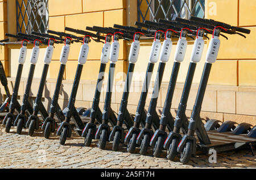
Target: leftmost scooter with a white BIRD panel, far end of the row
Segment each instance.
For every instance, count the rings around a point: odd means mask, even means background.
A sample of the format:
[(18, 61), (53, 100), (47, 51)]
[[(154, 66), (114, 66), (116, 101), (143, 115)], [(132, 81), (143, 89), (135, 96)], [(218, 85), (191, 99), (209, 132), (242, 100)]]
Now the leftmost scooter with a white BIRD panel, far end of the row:
[[(13, 95), (11, 96), (9, 113), (7, 113), (5, 118), (3, 119), (3, 124), (5, 124), (5, 131), (10, 132), (11, 126), (14, 125), (13, 122), (15, 120), (15, 115), (14, 115), (15, 110), (20, 113), (20, 104), (17, 101), (17, 98), (18, 98), (20, 78), (22, 76), (23, 64), (25, 63), (26, 56), (27, 56), (28, 40), (24, 39), (24, 37), (18, 36), (18, 35), (6, 34), (6, 36), (14, 37), (16, 39), (23, 39), (22, 40), (22, 47), (20, 48), (20, 51), (19, 51), (19, 60), (18, 60), (19, 65), (18, 65), (18, 70), (17, 70), (17, 73), (16, 73)], [(32, 39), (30, 39), (30, 41), (31, 40)], [(33, 112), (33, 108), (32, 108), (30, 103), (28, 103), (27, 111), (28, 111), (28, 114), (32, 114), (32, 112)]]

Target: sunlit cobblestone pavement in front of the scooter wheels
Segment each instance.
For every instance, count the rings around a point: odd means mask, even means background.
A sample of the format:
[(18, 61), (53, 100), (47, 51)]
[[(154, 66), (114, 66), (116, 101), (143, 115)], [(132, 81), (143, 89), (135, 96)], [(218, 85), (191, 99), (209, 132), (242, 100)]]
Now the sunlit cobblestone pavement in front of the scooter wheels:
[(135, 154), (127, 153), (125, 145), (120, 145), (118, 152), (111, 150), (111, 144), (101, 150), (97, 148), (97, 140), (91, 147), (85, 147), (84, 139), (76, 135), (60, 145), (55, 135), (44, 139), (42, 131), (30, 137), (27, 129), (22, 135), (17, 135), (15, 130), (6, 133), (0, 125), (0, 168), (256, 168), (256, 158), (249, 150), (218, 153), (216, 164), (208, 162), (209, 156), (197, 154), (188, 165), (182, 165), (179, 157), (167, 160), (166, 152), (155, 158), (141, 156), (138, 150)]

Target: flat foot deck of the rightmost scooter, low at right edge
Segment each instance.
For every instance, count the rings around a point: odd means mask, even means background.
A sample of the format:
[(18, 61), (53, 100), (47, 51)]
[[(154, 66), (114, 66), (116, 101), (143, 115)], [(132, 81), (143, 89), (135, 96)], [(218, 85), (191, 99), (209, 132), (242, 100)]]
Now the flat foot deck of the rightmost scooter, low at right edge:
[[(250, 143), (256, 143), (256, 138), (247, 134), (234, 135), (232, 132), (218, 132), (217, 130), (207, 131), (211, 144), (197, 144), (203, 151), (209, 152), (214, 149), (216, 152), (234, 150)], [(197, 137), (196, 137), (197, 138)]]

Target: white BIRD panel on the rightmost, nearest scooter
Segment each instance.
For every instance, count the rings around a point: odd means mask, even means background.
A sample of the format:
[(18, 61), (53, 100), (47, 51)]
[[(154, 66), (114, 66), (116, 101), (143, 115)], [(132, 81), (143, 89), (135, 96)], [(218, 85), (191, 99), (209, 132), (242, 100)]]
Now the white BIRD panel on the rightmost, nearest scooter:
[(220, 40), (218, 39), (218, 36), (214, 36), (209, 43), (206, 62), (214, 63), (216, 61), (218, 49), (220, 49)]

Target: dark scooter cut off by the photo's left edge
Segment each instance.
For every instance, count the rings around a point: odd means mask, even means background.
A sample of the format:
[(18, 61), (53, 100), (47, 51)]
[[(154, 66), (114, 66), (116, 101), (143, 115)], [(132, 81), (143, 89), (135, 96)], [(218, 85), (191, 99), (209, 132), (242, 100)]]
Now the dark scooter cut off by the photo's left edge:
[[(0, 45), (5, 45), (5, 42), (9, 41), (9, 39), (3, 39), (0, 40)], [(5, 69), (3, 69), (3, 64), (0, 61), (0, 81), (3, 85), (3, 87), (5, 88), (5, 94), (6, 94), (6, 99), (5, 101), (0, 105), (0, 112), (5, 112), (5, 111), (9, 111), (9, 103), (11, 100), (11, 95), (10, 95), (10, 91), (8, 88), (8, 81), (6, 78), (6, 74), (5, 74)]]

